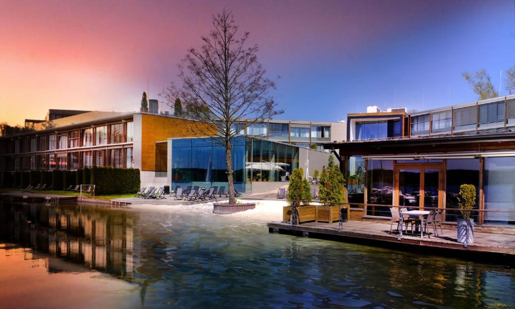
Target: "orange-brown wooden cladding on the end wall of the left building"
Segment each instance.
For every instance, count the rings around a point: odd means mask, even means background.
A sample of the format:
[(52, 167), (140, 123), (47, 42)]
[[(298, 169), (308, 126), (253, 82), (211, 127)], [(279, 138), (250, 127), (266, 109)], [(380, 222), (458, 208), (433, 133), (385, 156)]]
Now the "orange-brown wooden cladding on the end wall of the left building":
[(168, 138), (187, 138), (205, 136), (196, 121), (164, 117), (158, 115), (141, 115), (141, 169), (156, 170), (156, 142)]

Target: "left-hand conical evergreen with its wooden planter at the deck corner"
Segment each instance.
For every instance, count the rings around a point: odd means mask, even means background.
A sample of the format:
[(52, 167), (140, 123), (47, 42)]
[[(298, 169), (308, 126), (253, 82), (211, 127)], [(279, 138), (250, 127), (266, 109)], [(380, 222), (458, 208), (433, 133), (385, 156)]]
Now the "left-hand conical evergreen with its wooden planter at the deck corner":
[[(291, 221), (292, 224), (299, 224), (306, 221), (314, 221), (315, 206), (308, 205), (311, 201), (310, 184), (303, 177), (304, 171), (302, 168), (297, 168), (291, 173), (288, 194), (286, 199), (289, 205), (284, 207), (283, 210), (283, 221)], [(298, 217), (294, 218), (294, 213), (298, 213)]]

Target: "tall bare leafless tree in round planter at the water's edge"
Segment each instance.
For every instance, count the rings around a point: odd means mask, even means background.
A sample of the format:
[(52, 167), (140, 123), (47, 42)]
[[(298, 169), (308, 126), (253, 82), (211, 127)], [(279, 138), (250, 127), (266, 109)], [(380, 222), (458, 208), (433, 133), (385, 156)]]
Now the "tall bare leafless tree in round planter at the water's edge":
[[(163, 97), (171, 106), (179, 98), (183, 113), (199, 121), (194, 130), (226, 149), (229, 203), (235, 203), (232, 143), (250, 125), (283, 113), (270, 95), (276, 84), (265, 77), (258, 62), (258, 46), (246, 47), (249, 32), (237, 37), (233, 15), (213, 15), (214, 30), (202, 37), (203, 45), (190, 48), (178, 65), (180, 87), (171, 83)], [(198, 135), (197, 135), (198, 136)]]

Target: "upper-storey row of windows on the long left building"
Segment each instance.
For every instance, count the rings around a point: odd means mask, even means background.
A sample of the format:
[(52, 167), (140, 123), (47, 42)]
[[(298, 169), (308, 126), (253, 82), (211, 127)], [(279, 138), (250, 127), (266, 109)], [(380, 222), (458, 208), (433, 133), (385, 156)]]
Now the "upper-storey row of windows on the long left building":
[(77, 129), (67, 133), (33, 136), (14, 140), (7, 153), (25, 153), (94, 145), (107, 145), (133, 141), (133, 123), (120, 123), (87, 129)]

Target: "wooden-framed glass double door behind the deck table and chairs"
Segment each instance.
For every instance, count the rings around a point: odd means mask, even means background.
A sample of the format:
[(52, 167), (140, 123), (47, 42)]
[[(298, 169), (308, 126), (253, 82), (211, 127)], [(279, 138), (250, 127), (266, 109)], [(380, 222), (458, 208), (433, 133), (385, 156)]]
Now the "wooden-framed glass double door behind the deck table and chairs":
[(397, 164), (394, 205), (443, 207), (443, 164)]

